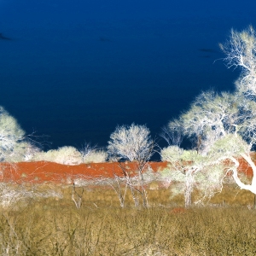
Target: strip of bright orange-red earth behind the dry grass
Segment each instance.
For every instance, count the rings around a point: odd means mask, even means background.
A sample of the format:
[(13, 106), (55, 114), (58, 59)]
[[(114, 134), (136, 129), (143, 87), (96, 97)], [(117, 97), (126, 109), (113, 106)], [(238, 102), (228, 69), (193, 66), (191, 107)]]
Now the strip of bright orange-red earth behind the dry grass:
[[(149, 162), (154, 172), (161, 171), (168, 165), (167, 162)], [(135, 162), (122, 163), (127, 170), (136, 170)], [(253, 176), (253, 170), (244, 160), (240, 160), (240, 172), (248, 177)], [(121, 176), (122, 169), (117, 162), (90, 163), (78, 166), (65, 166), (54, 162), (20, 162), (17, 164), (0, 163), (0, 182), (15, 183), (72, 183), (74, 178), (96, 178)]]

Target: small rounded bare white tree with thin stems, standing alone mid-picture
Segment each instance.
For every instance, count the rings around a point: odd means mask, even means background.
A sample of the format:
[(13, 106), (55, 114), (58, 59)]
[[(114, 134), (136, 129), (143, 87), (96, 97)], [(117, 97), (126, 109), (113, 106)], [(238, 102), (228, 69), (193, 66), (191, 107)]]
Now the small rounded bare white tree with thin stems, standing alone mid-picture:
[[(139, 199), (143, 201), (143, 207), (148, 207), (147, 191), (145, 189), (145, 172), (148, 168), (148, 160), (154, 154), (154, 141), (149, 135), (150, 131), (145, 125), (118, 126), (111, 134), (108, 142), (108, 154), (119, 160), (119, 167), (123, 176), (115, 175), (115, 191), (119, 195), (121, 207), (124, 207), (126, 190), (129, 188), (135, 207), (139, 206)], [(121, 160), (135, 161), (134, 170), (130, 170)], [(125, 192), (122, 193), (122, 186)], [(114, 188), (114, 187), (113, 187)]]

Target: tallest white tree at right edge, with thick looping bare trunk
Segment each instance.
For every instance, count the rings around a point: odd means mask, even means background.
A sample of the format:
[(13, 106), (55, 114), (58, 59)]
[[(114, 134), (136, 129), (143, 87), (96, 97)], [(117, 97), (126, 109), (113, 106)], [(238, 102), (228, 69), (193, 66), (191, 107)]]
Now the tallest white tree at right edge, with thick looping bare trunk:
[[(242, 32), (231, 30), (229, 40), (226, 44), (220, 44), (220, 48), (226, 55), (224, 61), (228, 67), (241, 67), (241, 75), (236, 81), (236, 93), (241, 99), (237, 104), (241, 115), (239, 134), (243, 143), (240, 155), (253, 169), (251, 183), (242, 183), (237, 174), (239, 162), (230, 157), (235, 165), (233, 177), (241, 189), (250, 190), (256, 195), (256, 166), (251, 158), (251, 150), (256, 142), (256, 34), (253, 26)], [(233, 147), (236, 148), (236, 145), (233, 144)]]

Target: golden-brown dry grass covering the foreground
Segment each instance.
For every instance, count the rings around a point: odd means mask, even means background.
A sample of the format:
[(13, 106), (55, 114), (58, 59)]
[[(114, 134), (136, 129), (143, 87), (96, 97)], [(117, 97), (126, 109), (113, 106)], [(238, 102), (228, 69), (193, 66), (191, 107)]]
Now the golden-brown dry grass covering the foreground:
[(183, 207), (183, 197), (171, 201), (168, 189), (148, 190), (148, 209), (134, 208), (130, 195), (119, 207), (107, 188), (85, 189), (77, 209), (72, 188), (58, 189), (62, 199), (1, 209), (1, 255), (256, 255), (253, 195), (234, 187), (209, 202), (221, 206), (182, 213), (172, 209)]

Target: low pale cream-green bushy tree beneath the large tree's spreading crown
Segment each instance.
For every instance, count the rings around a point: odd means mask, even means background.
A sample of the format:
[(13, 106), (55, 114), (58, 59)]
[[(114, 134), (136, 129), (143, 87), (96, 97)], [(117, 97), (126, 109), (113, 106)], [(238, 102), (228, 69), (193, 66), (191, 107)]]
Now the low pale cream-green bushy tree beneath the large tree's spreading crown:
[(198, 154), (195, 150), (184, 150), (170, 146), (161, 151), (162, 158), (169, 161), (169, 166), (161, 172), (161, 177), (169, 180), (172, 197), (183, 194), (185, 207), (192, 204), (192, 192), (196, 189), (198, 197), (195, 204), (208, 201), (223, 188), (223, 183), (230, 181), (228, 166), (223, 160), (213, 158), (211, 154)]

